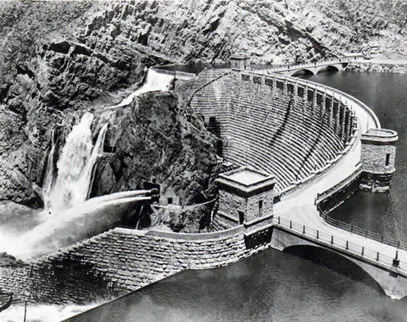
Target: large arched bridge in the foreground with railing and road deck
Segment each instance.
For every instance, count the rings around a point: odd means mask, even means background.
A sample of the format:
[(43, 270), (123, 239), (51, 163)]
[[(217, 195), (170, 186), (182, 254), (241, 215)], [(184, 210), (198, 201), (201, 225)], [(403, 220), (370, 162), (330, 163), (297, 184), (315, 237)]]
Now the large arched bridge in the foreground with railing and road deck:
[(407, 295), (407, 252), (331, 225), (309, 227), (286, 218), (274, 218), (271, 246), (284, 251), (292, 246), (314, 246), (337, 253), (358, 265), (379, 284), (386, 295)]

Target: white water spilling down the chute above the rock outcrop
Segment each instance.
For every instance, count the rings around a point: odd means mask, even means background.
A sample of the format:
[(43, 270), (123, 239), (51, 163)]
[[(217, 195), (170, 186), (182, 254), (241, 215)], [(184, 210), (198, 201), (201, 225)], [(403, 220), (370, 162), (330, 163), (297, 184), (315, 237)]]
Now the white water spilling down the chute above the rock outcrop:
[(124, 98), (122, 102), (120, 102), (118, 105), (111, 106), (111, 107), (121, 107), (121, 106), (126, 106), (129, 105), (134, 97), (137, 97), (138, 95), (146, 92), (151, 92), (151, 91), (168, 91), (170, 88), (170, 84), (173, 81), (174, 76), (172, 75), (167, 75), (164, 73), (157, 73), (154, 69), (148, 69), (147, 73), (147, 79), (145, 84), (140, 87), (140, 89), (137, 89), (133, 93), (131, 93), (129, 96)]

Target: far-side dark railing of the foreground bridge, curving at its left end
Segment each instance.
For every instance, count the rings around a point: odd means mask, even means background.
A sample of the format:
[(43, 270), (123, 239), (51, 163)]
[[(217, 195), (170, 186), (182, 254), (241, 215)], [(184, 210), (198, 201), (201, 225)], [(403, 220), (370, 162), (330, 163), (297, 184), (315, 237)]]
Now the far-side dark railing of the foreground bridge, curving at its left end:
[(380, 235), (380, 233), (373, 233), (372, 231), (368, 231), (367, 229), (360, 228), (355, 225), (351, 225), (347, 222), (342, 222), (340, 220), (333, 219), (328, 216), (325, 211), (322, 211), (319, 205), (317, 205), (318, 213), (320, 214), (320, 217), (327, 222), (327, 224), (333, 226), (333, 227), (338, 227), (340, 229), (343, 229), (345, 231), (349, 231), (349, 233), (355, 233), (356, 235), (363, 236), (364, 238), (369, 238), (370, 240), (375, 240), (376, 242), (380, 242), (382, 244), (386, 244), (388, 246), (393, 246), (396, 249), (402, 249), (404, 251), (407, 251), (407, 243), (402, 242), (400, 240), (395, 240), (394, 238), (388, 238), (384, 235)]

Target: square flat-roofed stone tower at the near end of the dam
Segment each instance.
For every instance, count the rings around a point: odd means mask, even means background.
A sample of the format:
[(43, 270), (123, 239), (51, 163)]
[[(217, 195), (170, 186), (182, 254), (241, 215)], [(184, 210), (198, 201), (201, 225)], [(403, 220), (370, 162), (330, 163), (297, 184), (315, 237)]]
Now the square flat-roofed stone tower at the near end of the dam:
[(220, 174), (217, 220), (223, 228), (269, 218), (273, 214), (274, 185), (271, 174), (242, 167)]

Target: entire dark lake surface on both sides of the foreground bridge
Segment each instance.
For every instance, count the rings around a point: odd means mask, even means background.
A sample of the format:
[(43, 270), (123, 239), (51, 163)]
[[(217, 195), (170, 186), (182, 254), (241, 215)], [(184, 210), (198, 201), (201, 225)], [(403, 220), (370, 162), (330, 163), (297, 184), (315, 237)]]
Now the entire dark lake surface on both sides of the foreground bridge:
[[(407, 240), (407, 75), (323, 73), (310, 80), (371, 106), (399, 133), (391, 191), (357, 192), (331, 216)], [(407, 300), (392, 300), (358, 266), (312, 248), (268, 249), (242, 262), (185, 271), (69, 321), (407, 321)]]

